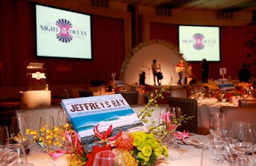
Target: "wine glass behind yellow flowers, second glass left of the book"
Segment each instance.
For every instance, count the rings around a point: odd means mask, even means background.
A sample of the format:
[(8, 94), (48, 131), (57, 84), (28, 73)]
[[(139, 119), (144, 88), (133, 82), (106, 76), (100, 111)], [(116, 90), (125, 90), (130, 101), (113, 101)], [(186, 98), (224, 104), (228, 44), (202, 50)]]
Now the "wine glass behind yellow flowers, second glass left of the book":
[(45, 153), (48, 153), (49, 146), (47, 144), (47, 140), (45, 140), (45, 137), (47, 137), (47, 130), (52, 130), (54, 126), (54, 120), (52, 116), (42, 116), (40, 117), (40, 136), (43, 138), (43, 146), (44, 149), (42, 150)]

